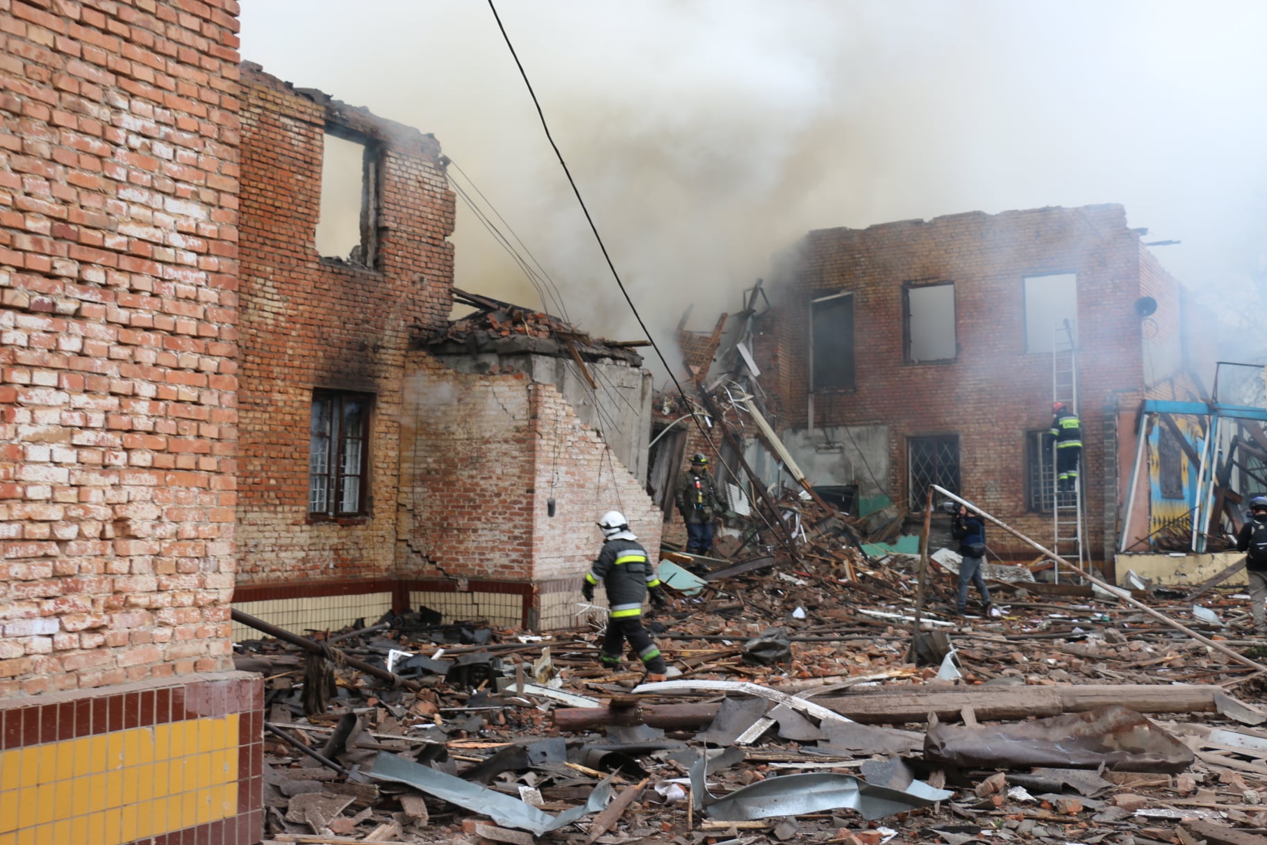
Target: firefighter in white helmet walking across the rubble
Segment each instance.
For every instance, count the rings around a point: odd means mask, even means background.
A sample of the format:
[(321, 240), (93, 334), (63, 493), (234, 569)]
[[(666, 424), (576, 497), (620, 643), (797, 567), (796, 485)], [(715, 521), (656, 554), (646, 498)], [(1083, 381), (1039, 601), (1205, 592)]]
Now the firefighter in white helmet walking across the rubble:
[(611, 614), (607, 635), (603, 637), (602, 664), (614, 669), (621, 664), (623, 645), (637, 652), (646, 666), (647, 680), (664, 680), (666, 666), (664, 655), (655, 647), (651, 635), (642, 627), (642, 599), (650, 593), (651, 604), (664, 607), (666, 599), (660, 589), (660, 579), (646, 555), (646, 550), (630, 531), (628, 522), (620, 511), (608, 511), (598, 521), (603, 531), (603, 547), (580, 588), (587, 602), (594, 599), (594, 585), (599, 581), (607, 590)]

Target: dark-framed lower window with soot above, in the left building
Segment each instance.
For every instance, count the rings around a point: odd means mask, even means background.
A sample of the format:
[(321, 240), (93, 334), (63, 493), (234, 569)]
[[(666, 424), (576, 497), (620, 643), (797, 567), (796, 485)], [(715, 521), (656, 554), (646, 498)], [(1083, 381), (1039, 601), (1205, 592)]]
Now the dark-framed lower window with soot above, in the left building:
[(308, 512), (314, 517), (366, 513), (370, 405), (364, 393), (313, 393), (308, 447)]

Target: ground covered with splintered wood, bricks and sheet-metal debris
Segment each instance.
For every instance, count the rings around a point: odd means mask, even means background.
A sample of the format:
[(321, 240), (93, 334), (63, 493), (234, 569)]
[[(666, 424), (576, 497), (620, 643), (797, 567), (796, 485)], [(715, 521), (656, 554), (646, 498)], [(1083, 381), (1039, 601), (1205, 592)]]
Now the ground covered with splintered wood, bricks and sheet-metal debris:
[[(1264, 675), (1117, 597), (996, 580), (1000, 616), (960, 619), (933, 564), (912, 661), (910, 559), (669, 557), (660, 684), (598, 666), (597, 608), (546, 637), (421, 612), (304, 632), (324, 656), (242, 644), (267, 675), (266, 839), (1267, 842)], [(1134, 595), (1267, 654), (1243, 597)]]

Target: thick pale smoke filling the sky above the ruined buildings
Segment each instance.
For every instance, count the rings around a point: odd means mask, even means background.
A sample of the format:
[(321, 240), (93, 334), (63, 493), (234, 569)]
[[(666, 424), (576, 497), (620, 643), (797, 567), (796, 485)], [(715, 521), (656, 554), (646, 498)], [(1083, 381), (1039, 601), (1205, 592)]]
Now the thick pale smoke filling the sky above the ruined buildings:
[[(1243, 300), (1267, 280), (1267, 5), (499, 11), (658, 340), (689, 303), (693, 328), (735, 310), (770, 255), (811, 228), (968, 210), (1123, 203), (1145, 241), (1182, 239), (1158, 255), (1194, 289)], [(637, 336), (487, 5), (245, 4), (242, 54), (436, 133), (551, 272), (569, 317)], [(461, 206), (454, 239), (459, 286), (540, 304)]]

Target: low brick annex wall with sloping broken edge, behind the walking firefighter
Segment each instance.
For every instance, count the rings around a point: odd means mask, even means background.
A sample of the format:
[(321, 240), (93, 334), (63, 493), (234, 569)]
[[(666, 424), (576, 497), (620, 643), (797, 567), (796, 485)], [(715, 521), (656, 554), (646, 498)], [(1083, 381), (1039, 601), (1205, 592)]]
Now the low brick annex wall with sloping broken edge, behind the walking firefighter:
[(658, 551), (659, 509), (642, 481), (552, 385), (416, 356), (400, 454), (403, 576), (579, 579), (602, 543), (594, 523), (621, 508)]

